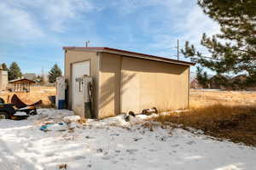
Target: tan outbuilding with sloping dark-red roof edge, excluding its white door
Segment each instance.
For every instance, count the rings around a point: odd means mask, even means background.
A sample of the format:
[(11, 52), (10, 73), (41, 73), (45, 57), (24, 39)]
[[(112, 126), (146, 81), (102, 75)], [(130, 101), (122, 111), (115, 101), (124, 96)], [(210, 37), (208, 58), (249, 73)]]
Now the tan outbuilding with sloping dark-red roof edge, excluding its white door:
[(64, 47), (68, 108), (72, 108), (72, 68), (90, 63), (97, 118), (128, 111), (139, 113), (189, 107), (189, 67), (193, 63), (115, 48)]

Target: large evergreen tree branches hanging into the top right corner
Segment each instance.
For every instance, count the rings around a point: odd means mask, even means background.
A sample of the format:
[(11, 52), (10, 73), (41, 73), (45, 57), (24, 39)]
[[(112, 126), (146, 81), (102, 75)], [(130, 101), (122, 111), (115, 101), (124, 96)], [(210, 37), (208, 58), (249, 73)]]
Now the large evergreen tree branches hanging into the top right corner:
[(204, 33), (201, 45), (210, 55), (204, 55), (186, 42), (183, 54), (217, 74), (247, 71), (256, 75), (256, 1), (198, 0), (203, 12), (218, 22), (221, 32), (212, 37)]

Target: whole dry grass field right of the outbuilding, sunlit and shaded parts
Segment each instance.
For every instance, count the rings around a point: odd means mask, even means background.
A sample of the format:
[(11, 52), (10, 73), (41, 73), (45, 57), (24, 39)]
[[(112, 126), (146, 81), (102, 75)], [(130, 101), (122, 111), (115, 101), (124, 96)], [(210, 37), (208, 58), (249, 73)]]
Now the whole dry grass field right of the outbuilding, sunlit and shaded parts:
[(256, 146), (256, 92), (191, 90), (189, 111), (154, 121), (193, 127), (216, 139)]

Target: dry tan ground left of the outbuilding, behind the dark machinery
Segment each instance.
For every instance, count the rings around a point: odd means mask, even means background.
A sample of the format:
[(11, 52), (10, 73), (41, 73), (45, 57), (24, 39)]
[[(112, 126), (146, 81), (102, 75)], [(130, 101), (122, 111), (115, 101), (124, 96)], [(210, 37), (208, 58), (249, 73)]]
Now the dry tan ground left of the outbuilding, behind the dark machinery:
[(52, 107), (49, 96), (55, 96), (56, 89), (55, 87), (32, 87), (30, 93), (10, 93), (3, 91), (0, 93), (0, 98), (3, 98), (5, 102), (8, 102), (11, 97), (17, 94), (18, 97), (26, 104), (32, 104), (37, 102), (39, 99), (43, 100), (42, 107)]

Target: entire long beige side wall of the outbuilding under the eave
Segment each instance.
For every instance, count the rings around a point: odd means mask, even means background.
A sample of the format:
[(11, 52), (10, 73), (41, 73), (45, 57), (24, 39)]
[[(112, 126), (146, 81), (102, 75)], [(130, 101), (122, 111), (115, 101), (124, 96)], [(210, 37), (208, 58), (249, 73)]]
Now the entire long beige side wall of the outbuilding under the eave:
[(103, 53), (100, 63), (99, 118), (189, 105), (189, 66)]

